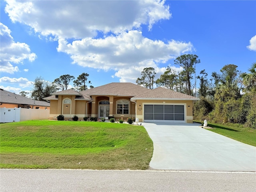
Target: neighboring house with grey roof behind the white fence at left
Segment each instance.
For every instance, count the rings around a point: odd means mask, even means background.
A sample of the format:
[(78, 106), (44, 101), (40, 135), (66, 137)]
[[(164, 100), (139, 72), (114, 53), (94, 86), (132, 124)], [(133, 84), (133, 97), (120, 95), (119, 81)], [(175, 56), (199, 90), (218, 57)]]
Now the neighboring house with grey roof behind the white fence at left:
[(37, 101), (0, 89), (0, 108), (50, 109), (50, 103)]

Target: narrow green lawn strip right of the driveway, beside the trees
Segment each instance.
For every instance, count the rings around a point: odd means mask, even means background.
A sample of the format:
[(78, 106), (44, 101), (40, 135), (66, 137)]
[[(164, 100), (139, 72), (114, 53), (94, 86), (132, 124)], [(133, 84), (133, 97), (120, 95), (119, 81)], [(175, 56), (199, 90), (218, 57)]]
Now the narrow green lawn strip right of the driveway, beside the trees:
[[(199, 121), (194, 121), (200, 123)], [(256, 146), (256, 130), (252, 128), (246, 128), (240, 124), (216, 124), (208, 122), (208, 126), (213, 129), (208, 129), (212, 132), (224, 135), (234, 140)]]

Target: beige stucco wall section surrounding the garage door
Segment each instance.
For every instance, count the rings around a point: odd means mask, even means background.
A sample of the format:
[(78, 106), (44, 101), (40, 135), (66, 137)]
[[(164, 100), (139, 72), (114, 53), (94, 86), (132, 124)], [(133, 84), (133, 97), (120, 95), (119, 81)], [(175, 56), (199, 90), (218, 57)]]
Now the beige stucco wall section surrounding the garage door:
[(184, 104), (185, 105), (185, 120), (187, 123), (193, 122), (193, 101), (190, 100), (137, 100), (137, 114), (136, 118), (139, 119), (139, 122), (143, 122), (144, 104)]

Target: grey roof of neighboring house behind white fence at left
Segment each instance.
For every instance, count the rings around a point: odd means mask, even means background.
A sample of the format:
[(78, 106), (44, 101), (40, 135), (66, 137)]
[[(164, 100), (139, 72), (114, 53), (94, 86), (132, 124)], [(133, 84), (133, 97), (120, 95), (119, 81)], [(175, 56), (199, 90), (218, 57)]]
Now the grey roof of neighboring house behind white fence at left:
[(50, 103), (48, 102), (33, 100), (3, 89), (0, 89), (0, 102), (6, 104), (50, 107)]

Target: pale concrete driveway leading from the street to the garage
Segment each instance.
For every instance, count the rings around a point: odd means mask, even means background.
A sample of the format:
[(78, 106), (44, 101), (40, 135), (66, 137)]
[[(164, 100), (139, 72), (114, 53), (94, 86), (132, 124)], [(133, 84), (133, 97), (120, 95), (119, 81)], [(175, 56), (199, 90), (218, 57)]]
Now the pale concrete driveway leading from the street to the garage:
[(256, 172), (256, 147), (200, 124), (142, 123), (154, 143), (150, 167), (161, 170)]

